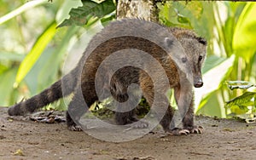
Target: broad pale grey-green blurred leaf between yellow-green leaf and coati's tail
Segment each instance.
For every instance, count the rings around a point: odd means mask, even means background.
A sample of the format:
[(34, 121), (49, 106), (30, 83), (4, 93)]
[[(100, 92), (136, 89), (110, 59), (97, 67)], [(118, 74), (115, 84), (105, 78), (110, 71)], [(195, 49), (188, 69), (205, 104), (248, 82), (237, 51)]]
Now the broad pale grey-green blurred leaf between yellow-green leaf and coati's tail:
[[(61, 42), (56, 47), (44, 49), (43, 54), (39, 57), (31, 71), (26, 75), (25, 82), (30, 90), (30, 94), (38, 94), (50, 84), (54, 83), (60, 77), (60, 66), (67, 54), (67, 48), (70, 46), (70, 40), (75, 37), (78, 26), (63, 28), (61, 32), (65, 33), (61, 37)], [(58, 35), (60, 32), (58, 32)], [(61, 35), (62, 36), (62, 35)]]

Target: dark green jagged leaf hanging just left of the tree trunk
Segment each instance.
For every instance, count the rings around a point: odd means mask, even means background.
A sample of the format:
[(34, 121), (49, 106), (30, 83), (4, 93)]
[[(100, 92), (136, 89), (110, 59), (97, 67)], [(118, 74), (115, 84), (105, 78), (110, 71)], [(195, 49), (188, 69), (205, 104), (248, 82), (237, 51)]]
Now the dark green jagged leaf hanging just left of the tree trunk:
[(64, 20), (61, 26), (84, 26), (90, 18), (102, 18), (107, 14), (112, 13), (116, 9), (113, 0), (105, 0), (102, 3), (95, 3), (90, 0), (84, 0), (83, 6), (77, 9), (71, 9), (70, 18)]

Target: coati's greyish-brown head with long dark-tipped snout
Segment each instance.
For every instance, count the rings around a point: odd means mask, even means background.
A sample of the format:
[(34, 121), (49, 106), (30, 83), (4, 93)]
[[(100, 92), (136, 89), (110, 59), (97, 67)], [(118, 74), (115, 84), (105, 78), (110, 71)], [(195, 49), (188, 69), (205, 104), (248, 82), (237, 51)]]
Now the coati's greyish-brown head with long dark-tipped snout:
[(197, 37), (195, 32), (187, 29), (172, 28), (171, 31), (173, 36), (182, 44), (187, 55), (182, 61), (189, 63), (191, 67), (195, 88), (202, 87), (201, 67), (206, 59), (207, 41), (202, 37)]

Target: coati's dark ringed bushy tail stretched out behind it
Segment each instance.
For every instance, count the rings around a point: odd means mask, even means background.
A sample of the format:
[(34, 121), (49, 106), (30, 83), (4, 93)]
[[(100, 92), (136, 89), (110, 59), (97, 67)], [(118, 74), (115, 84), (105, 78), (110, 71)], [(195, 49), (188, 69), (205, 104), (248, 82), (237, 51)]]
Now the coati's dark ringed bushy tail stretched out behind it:
[[(25, 115), (27, 112), (33, 112), (38, 108), (49, 105), (55, 100), (71, 94), (75, 88), (77, 79), (75, 70), (69, 72), (61, 80), (52, 84), (48, 89), (44, 89), (40, 94), (34, 95), (32, 98), (21, 101), (15, 106), (11, 106), (8, 110), (10, 116)], [(62, 87), (64, 89), (62, 89)]]

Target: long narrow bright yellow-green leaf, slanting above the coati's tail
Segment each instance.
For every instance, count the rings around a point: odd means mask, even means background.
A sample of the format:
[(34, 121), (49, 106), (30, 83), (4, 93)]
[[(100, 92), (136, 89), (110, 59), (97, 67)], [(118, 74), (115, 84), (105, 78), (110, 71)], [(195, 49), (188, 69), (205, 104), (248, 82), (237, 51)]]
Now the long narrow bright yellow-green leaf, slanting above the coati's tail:
[(26, 55), (26, 58), (20, 64), (16, 79), (15, 87), (26, 77), (28, 71), (31, 70), (32, 66), (36, 63), (44, 49), (55, 35), (55, 22), (51, 23), (49, 27), (38, 37), (37, 42), (33, 45), (32, 50)]

